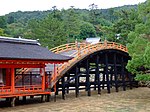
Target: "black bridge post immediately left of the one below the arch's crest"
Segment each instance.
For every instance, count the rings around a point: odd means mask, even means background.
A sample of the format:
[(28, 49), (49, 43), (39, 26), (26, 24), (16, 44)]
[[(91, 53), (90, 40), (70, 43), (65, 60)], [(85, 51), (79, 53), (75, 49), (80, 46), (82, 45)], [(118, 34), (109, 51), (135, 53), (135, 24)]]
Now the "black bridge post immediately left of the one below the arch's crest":
[(100, 73), (99, 73), (99, 56), (96, 56), (96, 76), (97, 76), (97, 84), (98, 84), (98, 94), (101, 93), (101, 88), (100, 88)]

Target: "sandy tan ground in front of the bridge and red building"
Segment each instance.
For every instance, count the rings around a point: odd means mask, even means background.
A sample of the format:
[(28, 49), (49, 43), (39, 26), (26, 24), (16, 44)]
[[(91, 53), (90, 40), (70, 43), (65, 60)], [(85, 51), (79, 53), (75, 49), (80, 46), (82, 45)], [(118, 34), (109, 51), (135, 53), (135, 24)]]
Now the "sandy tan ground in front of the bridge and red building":
[[(150, 112), (150, 88), (133, 88), (132, 90), (107, 94), (102, 90), (98, 95), (92, 91), (90, 97), (82, 91), (78, 98), (74, 93), (66, 96), (66, 100), (57, 97), (57, 101), (39, 103), (39, 98), (17, 103), (16, 107), (8, 107), (1, 102), (0, 112)], [(53, 100), (53, 99), (52, 99)]]

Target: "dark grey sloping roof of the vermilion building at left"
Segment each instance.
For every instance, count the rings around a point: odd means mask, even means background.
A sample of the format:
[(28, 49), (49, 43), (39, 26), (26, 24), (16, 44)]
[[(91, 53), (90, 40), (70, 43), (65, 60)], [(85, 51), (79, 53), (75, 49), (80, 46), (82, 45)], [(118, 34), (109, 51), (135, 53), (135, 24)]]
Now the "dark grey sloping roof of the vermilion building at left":
[(71, 57), (52, 53), (36, 40), (0, 37), (0, 60), (2, 59), (67, 61)]

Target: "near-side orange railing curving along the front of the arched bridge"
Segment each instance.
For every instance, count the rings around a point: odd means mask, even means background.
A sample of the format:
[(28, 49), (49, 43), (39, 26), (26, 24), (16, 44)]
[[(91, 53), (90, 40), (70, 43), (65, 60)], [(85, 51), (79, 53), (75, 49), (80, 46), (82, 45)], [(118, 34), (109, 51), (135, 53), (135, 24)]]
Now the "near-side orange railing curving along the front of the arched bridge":
[(64, 71), (67, 71), (70, 67), (72, 67), (75, 63), (77, 63), (84, 57), (96, 51), (104, 50), (104, 49), (116, 49), (116, 50), (120, 50), (123, 52), (128, 52), (126, 46), (115, 43), (115, 42), (104, 41), (104, 42), (99, 42), (97, 44), (88, 44), (84, 48), (78, 49), (77, 52), (72, 54), (72, 55), (75, 55), (73, 59), (57, 67), (57, 71), (55, 71), (55, 73), (52, 74), (51, 88), (55, 85), (57, 80), (63, 76), (63, 74), (65, 73)]

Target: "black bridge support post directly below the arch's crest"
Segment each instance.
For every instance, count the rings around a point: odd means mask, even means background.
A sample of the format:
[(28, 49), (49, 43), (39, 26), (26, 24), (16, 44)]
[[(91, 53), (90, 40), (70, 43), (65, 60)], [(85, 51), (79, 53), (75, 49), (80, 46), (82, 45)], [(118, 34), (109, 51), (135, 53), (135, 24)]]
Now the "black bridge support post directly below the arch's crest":
[(105, 53), (105, 73), (106, 73), (106, 80), (107, 80), (107, 91), (110, 93), (110, 81), (109, 81), (109, 74), (108, 74), (108, 55)]

